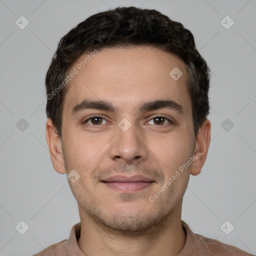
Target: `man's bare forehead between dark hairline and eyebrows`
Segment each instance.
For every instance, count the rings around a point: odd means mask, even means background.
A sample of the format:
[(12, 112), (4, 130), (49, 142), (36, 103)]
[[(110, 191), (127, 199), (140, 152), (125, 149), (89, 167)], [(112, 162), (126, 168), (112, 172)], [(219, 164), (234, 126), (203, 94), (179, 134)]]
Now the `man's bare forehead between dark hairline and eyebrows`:
[[(191, 110), (185, 63), (177, 56), (149, 46), (103, 48), (88, 54), (70, 68), (77, 73), (67, 85), (64, 111), (71, 112), (84, 99), (107, 100), (128, 111), (141, 102), (171, 99), (186, 112)], [(177, 70), (182, 75), (175, 80), (171, 75)]]

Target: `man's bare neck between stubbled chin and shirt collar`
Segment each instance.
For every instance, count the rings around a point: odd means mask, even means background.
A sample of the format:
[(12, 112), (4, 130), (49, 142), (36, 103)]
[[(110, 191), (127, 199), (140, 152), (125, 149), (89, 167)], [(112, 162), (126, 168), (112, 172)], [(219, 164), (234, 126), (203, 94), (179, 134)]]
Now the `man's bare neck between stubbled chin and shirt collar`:
[(85, 255), (176, 256), (186, 235), (180, 220), (181, 204), (174, 211), (147, 232), (126, 235), (102, 227), (79, 208), (81, 233), (77, 244)]

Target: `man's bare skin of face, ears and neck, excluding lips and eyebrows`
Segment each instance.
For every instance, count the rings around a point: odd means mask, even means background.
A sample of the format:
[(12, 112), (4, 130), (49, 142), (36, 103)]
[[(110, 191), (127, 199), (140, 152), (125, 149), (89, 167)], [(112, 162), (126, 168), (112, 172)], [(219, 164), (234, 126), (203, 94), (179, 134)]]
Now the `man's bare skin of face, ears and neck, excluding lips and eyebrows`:
[[(183, 73), (178, 80), (169, 75), (174, 67)], [(200, 173), (210, 142), (208, 119), (194, 136), (186, 83), (182, 60), (148, 46), (104, 48), (69, 82), (62, 138), (48, 119), (46, 140), (54, 169), (63, 174), (75, 169), (80, 175), (74, 183), (68, 182), (78, 203), (77, 242), (85, 255), (174, 256), (183, 248), (182, 197), (190, 174)], [(110, 101), (118, 111), (83, 109), (72, 115), (73, 107), (84, 99)], [(183, 114), (169, 108), (137, 111), (137, 105), (157, 99), (174, 100)], [(100, 124), (95, 119), (82, 123), (92, 115), (104, 119)], [(173, 123), (163, 119), (158, 124), (157, 116)], [(126, 131), (118, 126), (123, 118), (131, 124)], [(149, 201), (197, 151), (197, 159), (154, 202)], [(100, 181), (115, 174), (146, 175), (154, 182), (129, 192)]]

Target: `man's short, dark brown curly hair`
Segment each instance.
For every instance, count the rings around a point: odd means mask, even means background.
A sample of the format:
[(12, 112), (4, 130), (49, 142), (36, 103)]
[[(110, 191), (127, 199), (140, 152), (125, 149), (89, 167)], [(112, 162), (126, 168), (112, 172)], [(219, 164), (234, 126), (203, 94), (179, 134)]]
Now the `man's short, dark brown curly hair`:
[(59, 41), (45, 77), (46, 114), (61, 137), (64, 96), (67, 86), (50, 93), (65, 79), (73, 63), (95, 48), (147, 45), (172, 53), (184, 61), (191, 98), (194, 135), (209, 113), (209, 72), (195, 47), (192, 33), (155, 9), (117, 7), (95, 13), (80, 22)]

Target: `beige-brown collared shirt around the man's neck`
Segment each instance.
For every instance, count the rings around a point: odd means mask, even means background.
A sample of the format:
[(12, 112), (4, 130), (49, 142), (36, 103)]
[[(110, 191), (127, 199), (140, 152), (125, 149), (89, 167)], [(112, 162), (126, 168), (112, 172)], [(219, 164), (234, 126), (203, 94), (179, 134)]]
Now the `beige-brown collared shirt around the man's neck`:
[[(188, 225), (181, 220), (181, 225), (186, 233), (186, 241), (177, 256), (251, 256), (235, 246), (195, 234)], [(81, 222), (71, 228), (68, 240), (52, 244), (33, 256), (86, 256), (78, 247), (77, 239), (80, 237)], [(101, 253), (102, 254), (102, 253)], [(100, 255), (101, 255), (100, 254)]]

